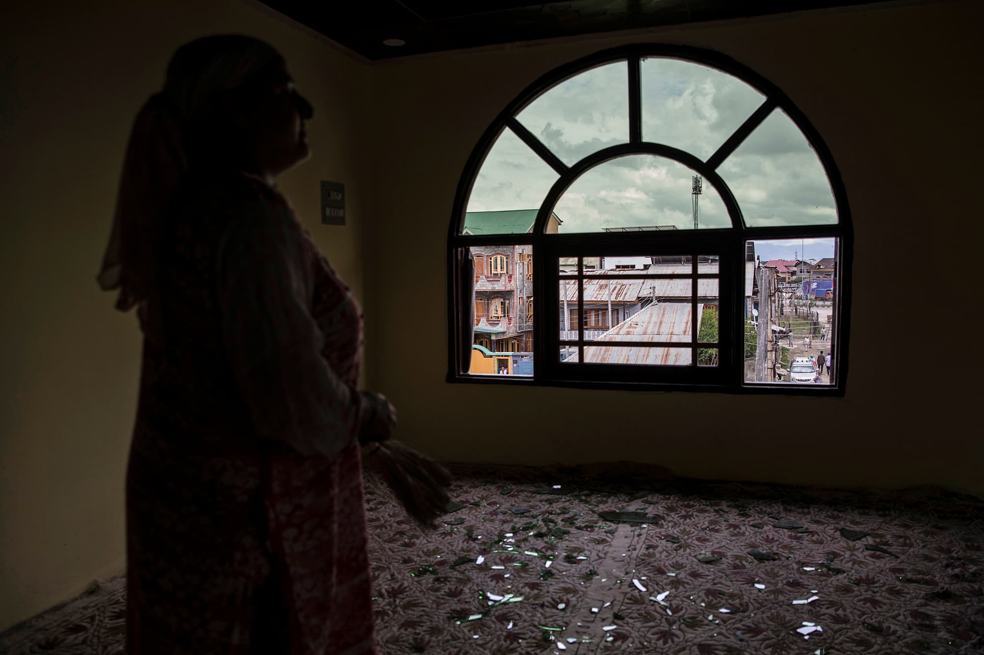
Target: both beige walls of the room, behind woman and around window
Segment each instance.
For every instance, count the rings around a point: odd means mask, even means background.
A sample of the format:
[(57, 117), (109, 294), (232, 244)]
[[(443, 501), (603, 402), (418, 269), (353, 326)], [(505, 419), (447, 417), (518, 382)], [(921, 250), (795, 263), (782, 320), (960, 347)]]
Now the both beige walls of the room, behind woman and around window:
[[(398, 404), (407, 442), (452, 460), (635, 459), (704, 477), (984, 492), (980, 440), (954, 418), (980, 384), (953, 345), (972, 329), (953, 324), (980, 312), (955, 311), (948, 282), (972, 279), (975, 253), (953, 245), (979, 232), (974, 3), (647, 37), (734, 56), (827, 139), (857, 237), (850, 391), (839, 400), (445, 383), (446, 235), (470, 149), (542, 73), (645, 36), (370, 67), (232, 0), (59, 4), (0, 16), (0, 629), (123, 566), (140, 342), (94, 275), (130, 121), (174, 47), (216, 31), (277, 45), (316, 107), (315, 158), (281, 187), (365, 299), (368, 386)], [(316, 223), (320, 179), (346, 184), (350, 226)], [(884, 263), (913, 258), (927, 271), (911, 283), (925, 304), (881, 305)], [(413, 293), (394, 283), (408, 271)], [(511, 429), (466, 430), (493, 412)]]

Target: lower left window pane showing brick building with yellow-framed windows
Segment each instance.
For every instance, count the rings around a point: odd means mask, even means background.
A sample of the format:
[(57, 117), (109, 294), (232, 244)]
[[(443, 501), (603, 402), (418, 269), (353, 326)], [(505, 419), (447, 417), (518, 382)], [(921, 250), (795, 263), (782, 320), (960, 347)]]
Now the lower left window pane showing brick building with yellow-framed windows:
[(487, 263), (475, 270), (469, 373), (533, 375), (532, 246), (473, 246), (469, 251)]

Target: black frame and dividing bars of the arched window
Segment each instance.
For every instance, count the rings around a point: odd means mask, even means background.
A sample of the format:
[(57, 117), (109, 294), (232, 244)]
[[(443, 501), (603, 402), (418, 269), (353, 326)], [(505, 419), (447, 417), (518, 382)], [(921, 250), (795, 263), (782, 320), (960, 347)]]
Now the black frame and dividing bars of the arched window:
[[(681, 149), (642, 141), (641, 65), (648, 57), (667, 57), (690, 61), (732, 75), (759, 90), (763, 104), (706, 161)], [(563, 163), (525, 129), (516, 118), (523, 108), (541, 93), (586, 70), (619, 61), (627, 62), (629, 76), (629, 143), (596, 151), (573, 166)], [(817, 153), (830, 182), (837, 212), (837, 223), (827, 225), (786, 225), (749, 227), (742, 219), (729, 187), (716, 168), (775, 110), (781, 109), (800, 129)], [(536, 216), (532, 230), (522, 234), (463, 235), (464, 214), (475, 178), (500, 133), (509, 127), (543, 161), (559, 173)], [(724, 229), (670, 230), (622, 233), (546, 234), (545, 226), (558, 199), (584, 172), (604, 161), (629, 154), (653, 154), (684, 164), (704, 178), (720, 195), (732, 219)], [(738, 311), (744, 297), (746, 246), (748, 241), (769, 239), (835, 238), (836, 262), (833, 291), (834, 374), (830, 385), (795, 385), (789, 383), (748, 383), (744, 380), (745, 319)], [(542, 307), (558, 306), (559, 280), (557, 258), (610, 257), (638, 255), (695, 256), (694, 288), (697, 284), (696, 256), (716, 255), (719, 260), (718, 282), (718, 366), (687, 367), (629, 366), (612, 364), (563, 363), (551, 353), (559, 353), (559, 327), (554, 312), (533, 315), (533, 376), (503, 377), (468, 373), (473, 341), (472, 287), (474, 273), (468, 258), (469, 246), (532, 245), (533, 298), (540, 297)], [(842, 396), (846, 391), (849, 357), (849, 307), (853, 229), (847, 194), (839, 170), (824, 140), (805, 114), (778, 87), (767, 79), (719, 52), (681, 45), (641, 43), (610, 48), (560, 66), (529, 85), (500, 112), (472, 150), (455, 197), (448, 237), (448, 308), (449, 308), (449, 383), (497, 384), (518, 386), (623, 388), (637, 390), (686, 390), (731, 393)], [(553, 268), (552, 272), (549, 268)], [(590, 274), (584, 271), (584, 274)], [(552, 305), (551, 305), (552, 303)], [(696, 304), (696, 303), (695, 303)], [(696, 317), (695, 317), (696, 323)], [(695, 353), (697, 335), (694, 334)]]

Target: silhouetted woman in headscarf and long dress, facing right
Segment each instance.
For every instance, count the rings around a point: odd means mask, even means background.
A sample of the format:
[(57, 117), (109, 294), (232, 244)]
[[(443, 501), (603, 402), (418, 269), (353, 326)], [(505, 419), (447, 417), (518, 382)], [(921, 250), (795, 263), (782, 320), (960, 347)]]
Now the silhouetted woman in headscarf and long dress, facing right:
[(311, 105), (245, 36), (177, 50), (133, 126), (99, 283), (144, 332), (127, 652), (375, 653), (349, 289), (275, 186)]

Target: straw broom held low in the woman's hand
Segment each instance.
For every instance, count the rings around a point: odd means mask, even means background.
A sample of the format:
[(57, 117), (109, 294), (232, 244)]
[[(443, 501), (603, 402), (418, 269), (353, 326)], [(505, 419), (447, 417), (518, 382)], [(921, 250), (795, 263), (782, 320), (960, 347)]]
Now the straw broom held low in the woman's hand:
[(394, 439), (377, 442), (372, 450), (383, 481), (419, 525), (435, 527), (451, 498), (451, 473), (430, 457)]

